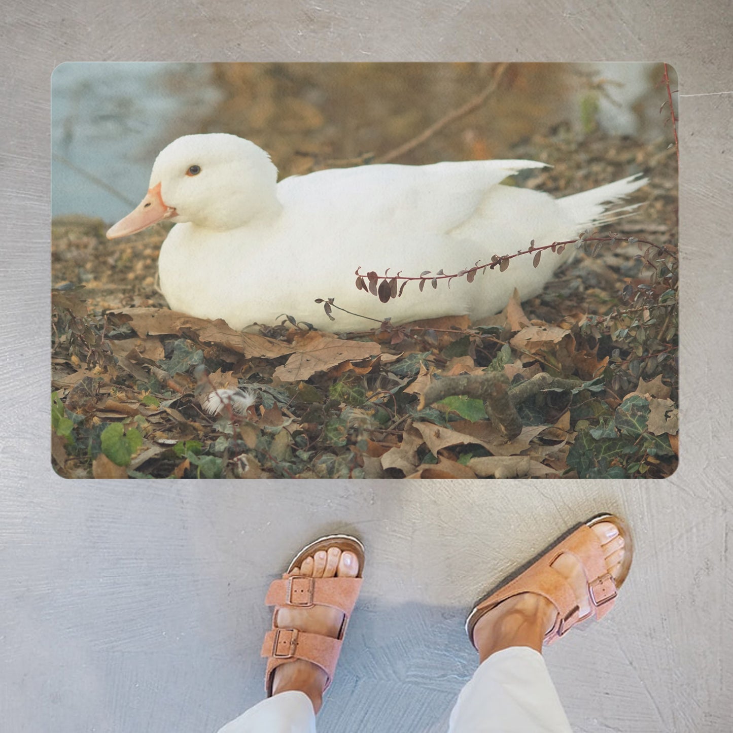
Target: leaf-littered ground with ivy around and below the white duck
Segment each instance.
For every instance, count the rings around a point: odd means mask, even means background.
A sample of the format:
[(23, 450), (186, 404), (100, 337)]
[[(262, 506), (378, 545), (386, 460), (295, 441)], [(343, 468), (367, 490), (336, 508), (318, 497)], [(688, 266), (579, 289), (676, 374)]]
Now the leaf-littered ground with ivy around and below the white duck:
[[(545, 292), (481, 325), (446, 317), (324, 334), (256, 333), (169, 311), (162, 227), (110, 243), (53, 225), (52, 454), (68, 477), (663, 477), (677, 466), (677, 161), (567, 128), (517, 144), (553, 164), (518, 182), (567, 195), (644, 171), (645, 204)], [(580, 234), (580, 233), (578, 233)], [(594, 233), (589, 233), (589, 239)], [(637, 241), (638, 240), (638, 241)], [(511, 254), (511, 253), (507, 253)], [(545, 256), (551, 256), (548, 252)], [(424, 297), (430, 298), (430, 288)], [(516, 405), (507, 438), (482, 399), (424, 394), (449, 376), (544, 372), (573, 386)]]

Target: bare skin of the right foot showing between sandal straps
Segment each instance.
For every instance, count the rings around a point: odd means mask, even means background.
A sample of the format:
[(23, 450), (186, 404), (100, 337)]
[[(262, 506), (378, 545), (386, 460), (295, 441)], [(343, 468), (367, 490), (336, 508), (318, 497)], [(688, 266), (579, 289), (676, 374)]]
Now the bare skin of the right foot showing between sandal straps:
[[(622, 570), (624, 539), (611, 522), (599, 522), (591, 527), (601, 542), (605, 566), (616, 580)], [(564, 575), (575, 591), (581, 618), (589, 614), (590, 601), (583, 567), (570, 553), (563, 553), (552, 567)], [(507, 647), (531, 647), (542, 651), (542, 641), (555, 624), (557, 609), (550, 601), (535, 593), (521, 593), (507, 598), (484, 614), (474, 627), (474, 644), (483, 661), (494, 652)]]

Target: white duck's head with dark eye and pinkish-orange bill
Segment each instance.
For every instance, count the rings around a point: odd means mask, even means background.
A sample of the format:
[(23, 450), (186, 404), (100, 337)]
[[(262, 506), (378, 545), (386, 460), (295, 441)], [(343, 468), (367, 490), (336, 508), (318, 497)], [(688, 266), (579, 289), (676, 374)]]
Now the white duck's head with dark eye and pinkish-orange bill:
[(186, 135), (155, 158), (147, 195), (107, 236), (126, 237), (166, 219), (236, 229), (279, 211), (276, 182), (270, 156), (253, 142), (224, 133)]

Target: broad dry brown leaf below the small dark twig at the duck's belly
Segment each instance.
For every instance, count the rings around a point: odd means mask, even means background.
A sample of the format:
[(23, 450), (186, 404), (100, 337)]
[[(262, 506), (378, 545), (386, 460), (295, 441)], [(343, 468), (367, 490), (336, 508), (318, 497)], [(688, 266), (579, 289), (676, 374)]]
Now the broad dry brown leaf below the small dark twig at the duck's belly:
[(283, 382), (305, 380), (343, 361), (362, 361), (381, 352), (374, 342), (328, 338), (316, 331), (309, 339), (296, 339), (290, 350), (292, 356), (274, 372)]

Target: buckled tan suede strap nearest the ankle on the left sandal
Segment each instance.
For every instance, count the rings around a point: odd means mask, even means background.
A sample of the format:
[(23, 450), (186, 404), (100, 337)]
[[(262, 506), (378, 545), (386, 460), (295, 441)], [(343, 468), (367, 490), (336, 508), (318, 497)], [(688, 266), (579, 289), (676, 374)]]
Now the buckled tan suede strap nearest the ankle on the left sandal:
[(296, 659), (306, 660), (323, 669), (327, 677), (323, 688), (325, 691), (331, 684), (331, 678), (334, 676), (336, 663), (339, 660), (344, 627), (345, 623), (341, 628), (341, 638), (331, 638), (331, 636), (321, 636), (288, 628), (268, 631), (260, 652), (262, 657), (268, 657), (268, 667), (265, 671), (265, 690), (267, 690), (268, 697), (272, 695), (276, 668)]

